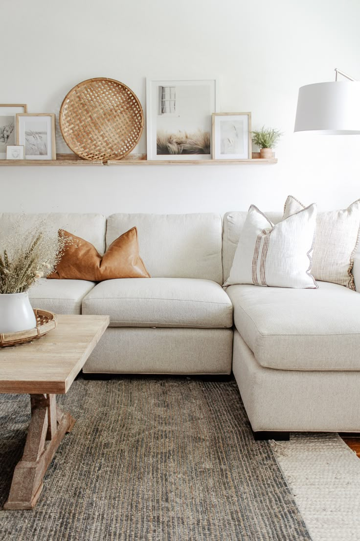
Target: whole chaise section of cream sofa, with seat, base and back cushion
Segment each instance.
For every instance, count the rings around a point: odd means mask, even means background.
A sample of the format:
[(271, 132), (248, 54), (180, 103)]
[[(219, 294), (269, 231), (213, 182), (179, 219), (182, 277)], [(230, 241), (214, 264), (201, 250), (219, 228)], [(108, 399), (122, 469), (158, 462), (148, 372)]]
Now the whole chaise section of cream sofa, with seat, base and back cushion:
[[(225, 274), (245, 217), (225, 216)], [(254, 432), (360, 432), (360, 297), (334, 283), (318, 286), (226, 288), (233, 372)]]

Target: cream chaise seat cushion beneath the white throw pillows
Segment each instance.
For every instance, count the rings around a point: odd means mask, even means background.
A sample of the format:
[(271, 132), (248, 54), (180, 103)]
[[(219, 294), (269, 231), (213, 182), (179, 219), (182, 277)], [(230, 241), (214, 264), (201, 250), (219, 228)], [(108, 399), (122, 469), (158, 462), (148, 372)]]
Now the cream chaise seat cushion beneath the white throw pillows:
[(335, 283), (318, 289), (234, 285), (234, 322), (263, 367), (360, 370), (360, 295)]

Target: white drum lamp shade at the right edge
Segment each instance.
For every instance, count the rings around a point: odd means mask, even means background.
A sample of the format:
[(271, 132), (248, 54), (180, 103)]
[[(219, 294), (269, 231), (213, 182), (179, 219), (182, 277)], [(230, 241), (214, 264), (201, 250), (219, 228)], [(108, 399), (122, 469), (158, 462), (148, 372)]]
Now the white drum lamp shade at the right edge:
[(360, 82), (332, 81), (301, 87), (294, 131), (360, 134)]

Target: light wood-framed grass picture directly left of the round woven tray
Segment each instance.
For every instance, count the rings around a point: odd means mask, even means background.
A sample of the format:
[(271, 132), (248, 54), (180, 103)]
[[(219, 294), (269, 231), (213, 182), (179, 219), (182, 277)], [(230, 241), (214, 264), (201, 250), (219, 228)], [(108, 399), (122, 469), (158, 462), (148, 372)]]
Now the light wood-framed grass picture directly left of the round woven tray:
[(25, 160), (56, 160), (55, 114), (16, 115), (16, 143), (25, 147)]

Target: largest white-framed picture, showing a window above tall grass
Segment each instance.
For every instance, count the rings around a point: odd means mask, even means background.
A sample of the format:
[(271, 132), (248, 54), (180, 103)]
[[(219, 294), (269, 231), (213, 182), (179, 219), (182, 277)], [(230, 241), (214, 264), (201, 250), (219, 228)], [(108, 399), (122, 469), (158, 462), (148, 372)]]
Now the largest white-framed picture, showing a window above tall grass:
[(147, 159), (210, 160), (211, 122), (219, 83), (200, 80), (146, 80)]

